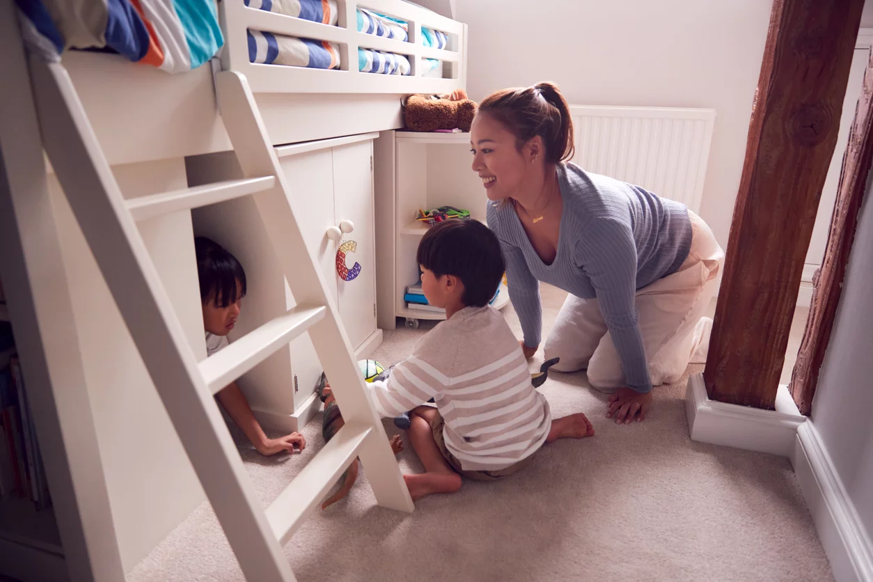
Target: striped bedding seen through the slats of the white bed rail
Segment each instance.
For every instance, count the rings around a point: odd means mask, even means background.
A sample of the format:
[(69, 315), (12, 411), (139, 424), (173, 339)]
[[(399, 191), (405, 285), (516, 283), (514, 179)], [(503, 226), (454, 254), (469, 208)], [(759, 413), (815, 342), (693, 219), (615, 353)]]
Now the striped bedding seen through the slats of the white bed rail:
[[(244, 0), (245, 5), (285, 16), (303, 18), (335, 26), (338, 20), (336, 0)], [(357, 10), (358, 31), (383, 38), (409, 39), (407, 23), (372, 10)], [(423, 28), (425, 46), (445, 48), (448, 36), (442, 31)], [(249, 60), (262, 65), (301, 66), (314, 69), (340, 67), (340, 49), (334, 43), (312, 38), (294, 38), (265, 31), (248, 31)], [(423, 60), (424, 72), (436, 69), (440, 62)], [(367, 48), (358, 49), (358, 70), (388, 75), (409, 75), (409, 58), (404, 55)]]

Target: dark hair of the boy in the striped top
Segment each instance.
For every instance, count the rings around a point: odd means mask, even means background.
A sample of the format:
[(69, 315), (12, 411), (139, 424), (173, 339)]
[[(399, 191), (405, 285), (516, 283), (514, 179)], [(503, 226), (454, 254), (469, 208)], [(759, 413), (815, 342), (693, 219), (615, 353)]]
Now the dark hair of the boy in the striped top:
[(418, 245), (418, 264), (436, 277), (464, 284), (464, 305), (484, 307), (494, 298), (505, 263), (497, 236), (476, 220), (447, 220), (429, 229)]

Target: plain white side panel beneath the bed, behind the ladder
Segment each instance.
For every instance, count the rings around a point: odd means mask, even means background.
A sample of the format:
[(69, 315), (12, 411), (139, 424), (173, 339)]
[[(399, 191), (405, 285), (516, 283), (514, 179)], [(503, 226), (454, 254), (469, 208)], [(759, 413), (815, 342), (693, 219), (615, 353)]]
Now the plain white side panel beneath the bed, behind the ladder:
[[(187, 186), (182, 159), (113, 172), (127, 198)], [(205, 494), (53, 175), (49, 188), (121, 563), (129, 572)], [(190, 213), (140, 223), (140, 231), (192, 348), (205, 354)]]

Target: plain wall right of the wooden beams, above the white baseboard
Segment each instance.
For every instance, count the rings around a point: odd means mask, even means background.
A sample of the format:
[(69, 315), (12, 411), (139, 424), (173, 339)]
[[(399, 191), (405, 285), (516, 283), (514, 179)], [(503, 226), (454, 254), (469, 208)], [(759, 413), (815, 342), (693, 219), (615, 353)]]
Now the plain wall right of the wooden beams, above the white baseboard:
[(834, 331), (821, 366), (812, 420), (868, 532), (873, 533), (873, 192), (849, 257)]

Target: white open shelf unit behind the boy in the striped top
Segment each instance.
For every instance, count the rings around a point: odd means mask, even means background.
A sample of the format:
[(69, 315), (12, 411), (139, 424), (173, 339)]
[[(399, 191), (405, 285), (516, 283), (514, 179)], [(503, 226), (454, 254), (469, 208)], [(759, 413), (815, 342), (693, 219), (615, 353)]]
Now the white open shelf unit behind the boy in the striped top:
[[(380, 256), (389, 257), (378, 284), (380, 317), (383, 329), (394, 329), (396, 318), (444, 319), (440, 312), (416, 310), (407, 306), (406, 287), (418, 280), (416, 250), (424, 233), (430, 229), (416, 221), (418, 209), (454, 206), (470, 210), (471, 219), (485, 223), (485, 188), (471, 168), (470, 134), (384, 132), (376, 144), (377, 176), (394, 177), (377, 180), (377, 217), (379, 229), (390, 229), (382, 236)], [(509, 292), (501, 284), (494, 306), (503, 308)]]

